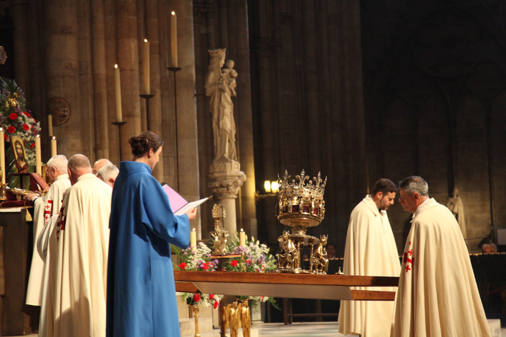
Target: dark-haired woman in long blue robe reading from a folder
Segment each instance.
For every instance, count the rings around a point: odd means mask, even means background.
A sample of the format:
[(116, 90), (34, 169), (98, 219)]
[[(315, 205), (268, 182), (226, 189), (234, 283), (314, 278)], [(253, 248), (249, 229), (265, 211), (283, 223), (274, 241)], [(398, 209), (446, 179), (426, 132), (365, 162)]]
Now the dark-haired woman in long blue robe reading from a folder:
[(131, 137), (112, 191), (107, 266), (107, 337), (180, 336), (170, 243), (186, 248), (196, 208), (175, 216), (151, 175), (162, 141)]

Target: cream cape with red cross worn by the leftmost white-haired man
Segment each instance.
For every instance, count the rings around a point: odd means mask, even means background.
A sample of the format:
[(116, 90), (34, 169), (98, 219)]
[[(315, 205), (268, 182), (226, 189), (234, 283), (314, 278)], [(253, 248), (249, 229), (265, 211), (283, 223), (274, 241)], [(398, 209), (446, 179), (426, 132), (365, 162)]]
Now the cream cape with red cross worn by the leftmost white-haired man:
[(51, 216), (60, 213), (63, 192), (70, 187), (68, 174), (56, 177), (44, 197), (36, 198), (33, 211), (33, 254), (26, 291), (26, 304), (39, 306), (42, 298), (44, 261), (37, 251), (37, 239)]

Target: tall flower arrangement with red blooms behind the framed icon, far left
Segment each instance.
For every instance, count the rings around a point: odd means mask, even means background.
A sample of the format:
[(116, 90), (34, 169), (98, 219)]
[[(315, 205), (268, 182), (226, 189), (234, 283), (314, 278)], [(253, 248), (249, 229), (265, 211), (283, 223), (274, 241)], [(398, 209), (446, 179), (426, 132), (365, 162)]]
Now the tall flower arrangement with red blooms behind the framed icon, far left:
[(25, 143), (28, 164), (35, 165), (35, 136), (40, 132), (39, 122), (26, 109), (23, 91), (14, 80), (0, 78), (0, 126), (4, 140), (20, 137)]

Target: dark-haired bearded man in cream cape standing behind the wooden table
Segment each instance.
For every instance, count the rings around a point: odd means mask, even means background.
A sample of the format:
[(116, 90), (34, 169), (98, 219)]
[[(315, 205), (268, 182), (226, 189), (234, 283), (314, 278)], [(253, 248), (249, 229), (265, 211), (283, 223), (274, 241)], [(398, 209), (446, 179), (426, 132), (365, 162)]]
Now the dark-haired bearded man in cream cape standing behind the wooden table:
[[(396, 193), (393, 182), (379, 179), (371, 195), (353, 209), (346, 236), (344, 274), (399, 276), (399, 254), (387, 216)], [(396, 287), (354, 289), (395, 291)], [(341, 301), (339, 332), (362, 337), (388, 336), (393, 311), (394, 304), (388, 301)]]

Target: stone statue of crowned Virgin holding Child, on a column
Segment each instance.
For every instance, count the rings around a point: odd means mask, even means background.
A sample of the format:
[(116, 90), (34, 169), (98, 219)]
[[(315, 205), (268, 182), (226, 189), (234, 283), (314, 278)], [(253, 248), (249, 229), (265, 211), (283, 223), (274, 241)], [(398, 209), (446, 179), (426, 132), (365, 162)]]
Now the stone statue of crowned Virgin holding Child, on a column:
[[(237, 96), (237, 71), (233, 69), (234, 61), (228, 60), (225, 63), (225, 51), (209, 50), (211, 60), (205, 79), (205, 95), (210, 98), (210, 112), (213, 116), (214, 164), (237, 161), (232, 103), (232, 97)], [(222, 69), (224, 65), (225, 68)]]

